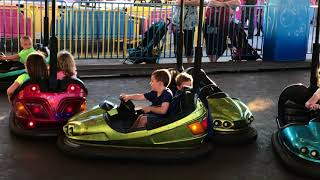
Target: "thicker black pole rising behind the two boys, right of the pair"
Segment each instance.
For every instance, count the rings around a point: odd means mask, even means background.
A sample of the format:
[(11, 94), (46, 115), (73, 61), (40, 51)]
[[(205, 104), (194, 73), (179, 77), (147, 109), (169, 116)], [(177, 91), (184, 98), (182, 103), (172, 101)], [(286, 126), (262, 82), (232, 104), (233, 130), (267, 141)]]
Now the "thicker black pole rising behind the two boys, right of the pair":
[(200, 0), (199, 7), (199, 24), (198, 24), (198, 38), (197, 47), (194, 60), (194, 71), (193, 71), (193, 89), (195, 91), (199, 88), (200, 81), (200, 69), (201, 69), (201, 58), (202, 58), (202, 47), (201, 47), (201, 32), (202, 32), (202, 19), (203, 19), (203, 0)]

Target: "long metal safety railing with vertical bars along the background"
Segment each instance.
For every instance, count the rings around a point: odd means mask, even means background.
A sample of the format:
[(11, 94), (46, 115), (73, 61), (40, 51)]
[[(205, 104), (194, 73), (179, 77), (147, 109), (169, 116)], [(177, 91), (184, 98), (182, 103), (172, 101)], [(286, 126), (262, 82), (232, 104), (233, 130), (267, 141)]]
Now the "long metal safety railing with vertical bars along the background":
[[(1, 52), (20, 51), (23, 35), (31, 36), (34, 44), (43, 42), (44, 1), (2, 0), (0, 5)], [(58, 1), (58, 49), (70, 51), (77, 59), (174, 58), (179, 24), (175, 21), (175, 12), (179, 8), (172, 1), (167, 4)], [(316, 6), (310, 8), (314, 10)], [(197, 33), (197, 24), (192, 23), (198, 18), (194, 15), (193, 21), (186, 19), (188, 9), (191, 8), (185, 9), (184, 17), (184, 29), (189, 30), (184, 34), (186, 56), (193, 55), (190, 50), (197, 41), (197, 36), (193, 36)], [(264, 5), (241, 5), (236, 9), (207, 7), (203, 14), (203, 55), (221, 56), (225, 60), (237, 60), (253, 53), (261, 56), (264, 9)], [(49, 22), (50, 11), (51, 7)], [(170, 24), (167, 26), (167, 23)], [(313, 42), (314, 26), (310, 27), (309, 41)], [(312, 52), (311, 48), (309, 46), (308, 53)]]

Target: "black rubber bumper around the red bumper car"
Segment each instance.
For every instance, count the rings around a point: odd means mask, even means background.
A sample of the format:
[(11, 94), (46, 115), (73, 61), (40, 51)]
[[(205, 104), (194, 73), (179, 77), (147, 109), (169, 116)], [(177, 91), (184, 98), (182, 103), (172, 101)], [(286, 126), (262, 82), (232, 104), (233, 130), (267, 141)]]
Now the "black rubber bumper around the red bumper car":
[(14, 135), (27, 138), (57, 137), (62, 134), (62, 128), (48, 130), (24, 129), (16, 123), (15, 116), (12, 112), (10, 113), (9, 117), (9, 129), (10, 132)]

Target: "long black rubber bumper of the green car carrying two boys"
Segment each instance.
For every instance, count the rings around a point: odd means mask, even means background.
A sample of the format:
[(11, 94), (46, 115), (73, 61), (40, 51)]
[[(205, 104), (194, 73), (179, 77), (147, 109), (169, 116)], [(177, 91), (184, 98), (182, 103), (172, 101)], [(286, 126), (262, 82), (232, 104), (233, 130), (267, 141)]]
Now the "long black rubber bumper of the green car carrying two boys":
[(203, 142), (198, 146), (186, 148), (174, 147), (138, 147), (105, 145), (94, 142), (73, 140), (60, 136), (58, 148), (68, 155), (84, 158), (132, 159), (146, 161), (190, 160), (207, 155), (211, 151), (211, 143)]

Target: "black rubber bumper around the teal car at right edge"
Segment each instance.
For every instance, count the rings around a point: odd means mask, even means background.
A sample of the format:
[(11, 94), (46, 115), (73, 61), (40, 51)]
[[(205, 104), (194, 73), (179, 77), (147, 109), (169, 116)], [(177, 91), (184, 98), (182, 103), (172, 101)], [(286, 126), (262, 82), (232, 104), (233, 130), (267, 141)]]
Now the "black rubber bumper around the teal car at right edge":
[(320, 164), (302, 159), (288, 150), (283, 144), (279, 131), (272, 135), (271, 142), (274, 152), (287, 168), (300, 175), (320, 178)]

